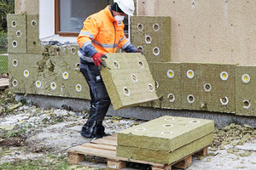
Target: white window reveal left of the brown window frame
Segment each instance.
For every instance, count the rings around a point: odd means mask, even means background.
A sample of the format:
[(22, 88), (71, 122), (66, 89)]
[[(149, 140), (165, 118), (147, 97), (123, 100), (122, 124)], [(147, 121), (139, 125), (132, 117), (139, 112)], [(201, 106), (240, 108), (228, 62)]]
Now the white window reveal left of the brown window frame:
[(55, 35), (55, 3), (39, 0), (39, 38)]

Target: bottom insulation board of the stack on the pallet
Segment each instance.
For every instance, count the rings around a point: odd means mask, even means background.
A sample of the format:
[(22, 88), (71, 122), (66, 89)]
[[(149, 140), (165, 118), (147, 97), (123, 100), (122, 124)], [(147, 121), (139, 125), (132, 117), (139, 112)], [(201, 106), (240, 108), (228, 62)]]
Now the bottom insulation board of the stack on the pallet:
[(161, 164), (171, 164), (175, 161), (182, 159), (185, 156), (188, 156), (189, 154), (194, 153), (197, 150), (201, 150), (205, 146), (211, 144), (212, 140), (213, 133), (209, 133), (201, 139), (196, 139), (195, 141), (183, 145), (177, 150), (173, 150), (171, 152), (117, 145), (116, 156)]

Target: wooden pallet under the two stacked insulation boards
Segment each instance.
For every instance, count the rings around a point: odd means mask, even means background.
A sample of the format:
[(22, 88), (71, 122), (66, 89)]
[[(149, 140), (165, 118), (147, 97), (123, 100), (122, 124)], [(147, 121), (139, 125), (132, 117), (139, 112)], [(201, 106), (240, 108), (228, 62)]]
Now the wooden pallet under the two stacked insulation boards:
[(171, 170), (172, 167), (185, 169), (192, 164), (192, 156), (207, 156), (207, 146), (201, 150), (185, 156), (182, 159), (173, 162), (172, 164), (160, 164), (149, 161), (133, 160), (124, 157), (118, 157), (116, 155), (117, 136), (107, 136), (103, 139), (96, 139), (90, 143), (81, 144), (74, 146), (67, 150), (68, 152), (68, 163), (78, 164), (80, 161), (84, 161), (84, 155), (89, 156), (100, 156), (108, 159), (108, 167), (113, 169), (122, 169), (126, 167), (126, 162), (135, 162), (151, 165), (153, 170)]

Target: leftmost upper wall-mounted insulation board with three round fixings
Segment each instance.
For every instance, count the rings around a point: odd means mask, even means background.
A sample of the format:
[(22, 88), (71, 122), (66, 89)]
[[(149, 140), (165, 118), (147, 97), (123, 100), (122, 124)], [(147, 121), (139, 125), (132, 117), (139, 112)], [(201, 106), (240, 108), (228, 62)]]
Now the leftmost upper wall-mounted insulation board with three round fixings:
[(8, 14), (8, 52), (26, 54), (26, 14)]

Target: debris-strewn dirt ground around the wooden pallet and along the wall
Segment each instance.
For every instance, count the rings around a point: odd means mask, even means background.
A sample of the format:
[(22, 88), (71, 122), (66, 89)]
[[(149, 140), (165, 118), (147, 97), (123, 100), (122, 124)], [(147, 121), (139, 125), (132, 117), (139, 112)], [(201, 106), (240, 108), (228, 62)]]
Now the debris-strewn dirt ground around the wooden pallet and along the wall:
[[(60, 109), (37, 108), (32, 103), (26, 103), (25, 99), (15, 101), (15, 94), (11, 94), (9, 90), (0, 91), (0, 97), (0, 169), (107, 167), (106, 159), (93, 156), (83, 161), (82, 166), (67, 164), (67, 149), (88, 142), (79, 134), (87, 121), (86, 118), (83, 119), (87, 111), (68, 111), (65, 105)], [(143, 122), (113, 116), (106, 117), (103, 124), (106, 133), (114, 134)], [(24, 162), (26, 166), (22, 167)], [(150, 166), (131, 164), (126, 169), (150, 169)], [(187, 169), (256, 170), (256, 130), (247, 125), (235, 124), (222, 129), (216, 128), (208, 155), (205, 158), (194, 157), (192, 166)]]

